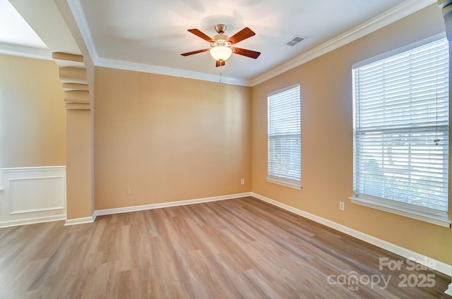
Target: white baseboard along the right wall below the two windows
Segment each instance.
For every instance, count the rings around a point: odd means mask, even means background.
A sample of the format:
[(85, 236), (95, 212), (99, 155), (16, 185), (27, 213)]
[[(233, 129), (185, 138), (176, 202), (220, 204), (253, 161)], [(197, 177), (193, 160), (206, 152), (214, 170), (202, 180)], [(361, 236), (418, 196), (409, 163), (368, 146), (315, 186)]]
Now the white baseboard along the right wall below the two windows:
[[(299, 216), (303, 216), (304, 218), (310, 219), (312, 221), (315, 221), (319, 224), (323, 224), (324, 226), (328, 226), (331, 228), (334, 228), (336, 231), (340, 231), (342, 233), (346, 233), (349, 236), (358, 238), (359, 240), (363, 240), (364, 242), (370, 243), (372, 245), (375, 245), (379, 248), (383, 248), (384, 250), (388, 250), (390, 252), (395, 253), (396, 255), (400, 255), (402, 257), (405, 257), (410, 260), (415, 260), (416, 262), (419, 262), (420, 264), (423, 264), (424, 266), (431, 266), (432, 264), (435, 264), (436, 267), (434, 268), (436, 271), (439, 271), (443, 274), (446, 274), (448, 276), (451, 276), (452, 274), (452, 265), (446, 264), (444, 262), (440, 262), (438, 260), (434, 260), (430, 257), (427, 257), (425, 255), (421, 255), (420, 253), (414, 252), (412, 250), (408, 250), (406, 248), (400, 247), (399, 245), (389, 243), (385, 240), (381, 240), (379, 238), (375, 238), (374, 236), (370, 236), (367, 233), (362, 233), (361, 231), (356, 231), (355, 229), (349, 228), (347, 226), (343, 226), (342, 224), (338, 224), (334, 221), (324, 219), (322, 217), (316, 216), (314, 214), (310, 214), (308, 212), (304, 212), (301, 209), (296, 209), (295, 207), (291, 207), (289, 205), (285, 205), (281, 202), (278, 202), (276, 200), (272, 200), (268, 197), (265, 197), (263, 195), (257, 194), (257, 193), (251, 193), (252, 197), (256, 197), (258, 200), (262, 200), (263, 202), (268, 202), (271, 205), (275, 205), (276, 207), (280, 207), (282, 209), (285, 209), (289, 212), (292, 212), (294, 214), (297, 214)], [(451, 286), (449, 286), (449, 290), (451, 289)]]

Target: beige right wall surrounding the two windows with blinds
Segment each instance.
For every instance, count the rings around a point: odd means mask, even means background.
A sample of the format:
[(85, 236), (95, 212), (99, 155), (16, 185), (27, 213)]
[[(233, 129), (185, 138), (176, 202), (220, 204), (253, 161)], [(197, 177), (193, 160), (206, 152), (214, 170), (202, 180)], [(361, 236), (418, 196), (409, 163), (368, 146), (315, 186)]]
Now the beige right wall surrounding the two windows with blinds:
[[(432, 5), (253, 87), (253, 192), (451, 264), (451, 229), (347, 200), (352, 195), (352, 63), (443, 31), (441, 11)], [(302, 92), (302, 190), (265, 179), (266, 96), (295, 83)], [(339, 201), (345, 201), (344, 212)]]

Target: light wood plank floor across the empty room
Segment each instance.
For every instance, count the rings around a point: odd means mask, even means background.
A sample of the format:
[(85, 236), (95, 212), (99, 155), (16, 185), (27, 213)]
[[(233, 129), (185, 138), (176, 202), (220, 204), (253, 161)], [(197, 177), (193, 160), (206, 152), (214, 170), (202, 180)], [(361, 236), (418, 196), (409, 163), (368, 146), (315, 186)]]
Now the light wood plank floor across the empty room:
[(451, 298), (450, 277), (379, 270), (405, 259), (252, 197), (63, 224), (0, 229), (0, 298)]

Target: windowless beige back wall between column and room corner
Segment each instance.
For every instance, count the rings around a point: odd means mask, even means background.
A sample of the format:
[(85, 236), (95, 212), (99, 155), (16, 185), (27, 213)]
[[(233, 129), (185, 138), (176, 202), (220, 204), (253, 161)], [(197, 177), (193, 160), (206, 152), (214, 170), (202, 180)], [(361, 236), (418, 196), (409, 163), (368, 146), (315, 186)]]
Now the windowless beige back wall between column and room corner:
[(100, 67), (95, 85), (96, 209), (251, 191), (251, 88)]

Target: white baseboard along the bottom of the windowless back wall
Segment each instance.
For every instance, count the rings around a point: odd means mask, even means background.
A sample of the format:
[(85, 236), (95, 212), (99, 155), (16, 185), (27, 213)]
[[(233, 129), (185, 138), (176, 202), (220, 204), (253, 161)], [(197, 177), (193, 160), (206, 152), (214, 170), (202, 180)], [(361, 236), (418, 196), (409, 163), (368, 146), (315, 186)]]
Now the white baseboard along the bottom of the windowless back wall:
[(237, 193), (237, 194), (231, 194), (231, 195), (221, 195), (221, 196), (214, 196), (214, 197), (204, 197), (204, 198), (198, 198), (198, 199), (194, 199), (194, 200), (179, 200), (176, 202), (162, 202), (162, 203), (151, 204), (151, 205), (118, 207), (118, 208), (114, 208), (114, 209), (96, 209), (93, 214), (93, 219), (95, 219), (97, 216), (102, 216), (102, 215), (137, 212), (137, 211), (144, 211), (146, 209), (160, 209), (163, 207), (177, 207), (180, 205), (194, 205), (194, 204), (200, 204), (203, 202), (216, 202), (218, 200), (232, 200), (234, 198), (246, 197), (246, 196), (251, 196), (251, 192)]

